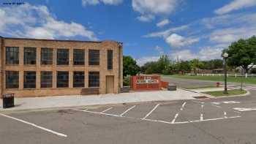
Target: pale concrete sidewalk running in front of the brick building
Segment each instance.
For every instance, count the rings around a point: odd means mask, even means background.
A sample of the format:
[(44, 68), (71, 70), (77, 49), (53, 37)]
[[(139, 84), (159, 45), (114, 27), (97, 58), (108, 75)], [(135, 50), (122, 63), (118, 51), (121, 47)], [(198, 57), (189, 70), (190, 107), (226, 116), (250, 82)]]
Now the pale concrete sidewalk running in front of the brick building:
[(16, 98), (15, 107), (0, 111), (31, 110), (58, 107), (81, 107), (89, 105), (109, 105), (129, 102), (173, 101), (181, 99), (195, 99), (193, 96), (204, 94), (177, 89), (177, 91), (147, 91), (121, 94), (99, 94), (90, 96), (45, 96), (33, 98)]

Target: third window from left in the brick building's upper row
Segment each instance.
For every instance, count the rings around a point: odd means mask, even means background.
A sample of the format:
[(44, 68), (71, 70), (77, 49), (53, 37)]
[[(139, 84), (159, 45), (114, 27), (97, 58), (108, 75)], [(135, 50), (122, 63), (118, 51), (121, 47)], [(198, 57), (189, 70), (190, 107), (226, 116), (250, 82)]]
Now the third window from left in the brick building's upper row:
[(53, 64), (52, 48), (41, 48), (41, 64), (45, 64), (45, 65)]

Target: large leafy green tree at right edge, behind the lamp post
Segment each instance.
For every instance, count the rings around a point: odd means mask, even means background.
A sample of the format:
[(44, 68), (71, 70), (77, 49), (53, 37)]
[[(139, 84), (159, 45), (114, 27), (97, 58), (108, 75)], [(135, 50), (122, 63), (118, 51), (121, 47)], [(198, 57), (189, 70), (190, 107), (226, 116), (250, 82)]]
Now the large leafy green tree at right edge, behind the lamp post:
[(256, 64), (256, 37), (239, 39), (233, 42), (223, 53), (228, 53), (227, 64), (231, 67), (242, 67), (246, 73)]

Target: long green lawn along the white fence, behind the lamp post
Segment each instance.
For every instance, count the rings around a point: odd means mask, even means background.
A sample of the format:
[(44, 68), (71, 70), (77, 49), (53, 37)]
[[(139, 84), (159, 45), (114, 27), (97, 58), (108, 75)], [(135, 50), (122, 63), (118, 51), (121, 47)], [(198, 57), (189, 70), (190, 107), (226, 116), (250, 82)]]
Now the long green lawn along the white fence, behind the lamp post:
[[(192, 80), (212, 80), (212, 81), (224, 81), (224, 76), (190, 76), (190, 75), (166, 75), (167, 77), (183, 78), (183, 79), (192, 79)], [(244, 83), (256, 84), (256, 77), (227, 77), (228, 82), (241, 83), (243, 80)]]

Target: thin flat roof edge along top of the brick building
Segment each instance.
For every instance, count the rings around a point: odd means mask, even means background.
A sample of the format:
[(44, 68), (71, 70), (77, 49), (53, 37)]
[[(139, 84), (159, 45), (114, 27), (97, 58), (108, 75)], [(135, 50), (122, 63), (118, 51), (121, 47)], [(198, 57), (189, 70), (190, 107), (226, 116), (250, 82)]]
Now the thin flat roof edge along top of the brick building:
[[(62, 39), (32, 39), (32, 38), (17, 38), (17, 37), (1, 37), (1, 38), (4, 38), (4, 39), (18, 39), (18, 40), (54, 41), (54, 42), (95, 42), (95, 43), (104, 42), (104, 41), (62, 40)], [(108, 41), (108, 40), (106, 40), (106, 41)], [(110, 40), (110, 41), (116, 42), (114, 40)], [(122, 44), (123, 42), (117, 42), (117, 43)]]

